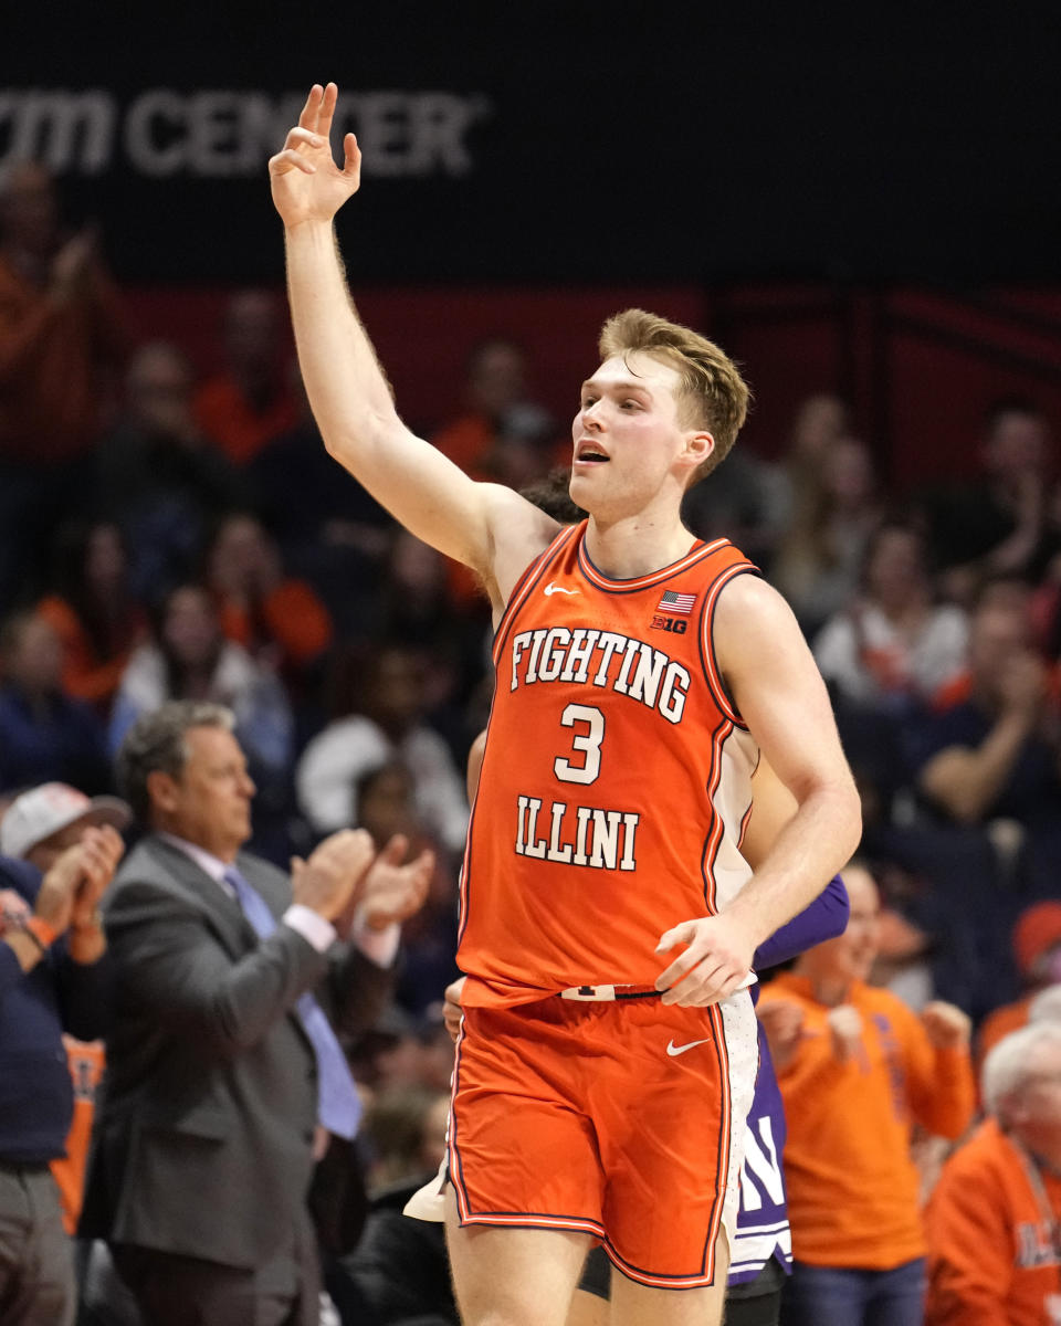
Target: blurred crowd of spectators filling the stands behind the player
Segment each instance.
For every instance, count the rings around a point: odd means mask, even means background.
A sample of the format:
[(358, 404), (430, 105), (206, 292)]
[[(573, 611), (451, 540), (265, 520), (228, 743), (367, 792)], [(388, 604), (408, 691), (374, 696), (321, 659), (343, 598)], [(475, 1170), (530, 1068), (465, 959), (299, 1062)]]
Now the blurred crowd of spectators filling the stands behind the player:
[[(215, 701), (257, 789), (253, 851), (285, 866), (351, 826), (377, 850), (397, 834), (434, 851), (394, 1006), (351, 1046), (374, 1103), (370, 1237), (349, 1270), (382, 1302), (371, 1249), (393, 1235), (395, 1193), (436, 1163), (487, 603), (328, 457), (277, 294), (235, 294), (220, 341), (206, 381), (176, 343), (131, 345), (94, 236), (64, 232), (38, 167), (8, 172), (0, 810), (50, 782), (113, 793), (139, 716)], [(439, 420), (438, 446), (476, 477), (541, 483), (564, 427), (529, 381), (509, 337), (476, 346), (466, 412)], [(890, 492), (845, 403), (810, 395), (780, 460), (737, 447), (686, 518), (756, 560), (830, 687), (881, 894), (871, 980), (911, 1018), (962, 1009), (981, 1057), (1061, 985), (1061, 467), (1050, 420), (1023, 399), (991, 410), (979, 457), (960, 484)], [(1005, 1090), (996, 1078), (1008, 1101), (1013, 1074)], [(923, 1099), (915, 1113), (935, 1116)], [(930, 1228), (951, 1219), (940, 1199)]]

